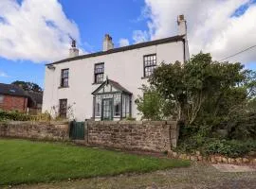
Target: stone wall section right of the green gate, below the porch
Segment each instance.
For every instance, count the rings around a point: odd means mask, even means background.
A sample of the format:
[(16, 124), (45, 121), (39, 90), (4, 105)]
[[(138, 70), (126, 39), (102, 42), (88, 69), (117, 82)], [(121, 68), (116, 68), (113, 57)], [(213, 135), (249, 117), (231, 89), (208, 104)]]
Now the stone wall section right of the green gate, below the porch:
[(128, 150), (168, 151), (177, 143), (176, 121), (86, 121), (89, 145)]

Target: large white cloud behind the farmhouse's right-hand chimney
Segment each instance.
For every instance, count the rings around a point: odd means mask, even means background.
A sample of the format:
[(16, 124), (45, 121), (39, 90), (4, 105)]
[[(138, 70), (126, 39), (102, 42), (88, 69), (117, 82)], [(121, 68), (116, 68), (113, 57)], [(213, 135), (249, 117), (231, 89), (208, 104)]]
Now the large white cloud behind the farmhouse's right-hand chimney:
[[(184, 14), (188, 24), (190, 53), (210, 52), (220, 60), (256, 43), (256, 4), (250, 0), (145, 0), (148, 30), (140, 31), (151, 40), (177, 34), (176, 18)], [(231, 16), (248, 4), (239, 17)], [(243, 63), (256, 62), (256, 49), (229, 59)]]

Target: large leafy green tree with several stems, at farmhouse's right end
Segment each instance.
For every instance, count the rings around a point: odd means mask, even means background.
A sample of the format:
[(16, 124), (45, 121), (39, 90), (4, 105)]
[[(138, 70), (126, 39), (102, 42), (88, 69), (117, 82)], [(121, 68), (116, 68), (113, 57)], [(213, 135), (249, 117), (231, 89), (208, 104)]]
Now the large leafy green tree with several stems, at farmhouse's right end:
[[(212, 61), (210, 54), (201, 52), (184, 64), (161, 63), (149, 82), (158, 94), (174, 103), (178, 119), (192, 124), (202, 107), (210, 107), (213, 114), (219, 112), (232, 89), (245, 80), (243, 68), (241, 63)], [(233, 94), (243, 98), (243, 90), (238, 91)]]

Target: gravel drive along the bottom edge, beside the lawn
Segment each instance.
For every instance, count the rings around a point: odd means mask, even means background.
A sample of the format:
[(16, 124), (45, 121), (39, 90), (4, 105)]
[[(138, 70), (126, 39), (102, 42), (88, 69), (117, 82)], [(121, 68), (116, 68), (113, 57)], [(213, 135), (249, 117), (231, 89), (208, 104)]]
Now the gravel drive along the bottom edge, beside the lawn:
[(221, 172), (206, 163), (192, 163), (146, 174), (124, 174), (116, 177), (64, 180), (56, 183), (13, 186), (15, 189), (255, 189), (256, 172)]

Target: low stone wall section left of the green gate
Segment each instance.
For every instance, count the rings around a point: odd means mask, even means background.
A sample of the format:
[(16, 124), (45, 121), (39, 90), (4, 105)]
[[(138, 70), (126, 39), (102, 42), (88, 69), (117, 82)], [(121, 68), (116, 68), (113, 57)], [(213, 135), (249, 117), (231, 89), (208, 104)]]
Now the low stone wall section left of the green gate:
[(0, 136), (28, 139), (69, 140), (67, 122), (0, 122)]

